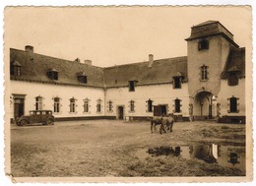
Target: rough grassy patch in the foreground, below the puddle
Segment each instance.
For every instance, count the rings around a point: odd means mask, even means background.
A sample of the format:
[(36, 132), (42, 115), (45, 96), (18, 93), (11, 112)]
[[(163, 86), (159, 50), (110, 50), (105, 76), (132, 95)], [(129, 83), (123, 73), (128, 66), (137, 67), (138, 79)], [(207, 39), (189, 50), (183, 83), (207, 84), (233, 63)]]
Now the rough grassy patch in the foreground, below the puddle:
[(244, 172), (237, 168), (224, 168), (218, 163), (170, 156), (133, 161), (120, 172), (120, 176), (244, 176)]

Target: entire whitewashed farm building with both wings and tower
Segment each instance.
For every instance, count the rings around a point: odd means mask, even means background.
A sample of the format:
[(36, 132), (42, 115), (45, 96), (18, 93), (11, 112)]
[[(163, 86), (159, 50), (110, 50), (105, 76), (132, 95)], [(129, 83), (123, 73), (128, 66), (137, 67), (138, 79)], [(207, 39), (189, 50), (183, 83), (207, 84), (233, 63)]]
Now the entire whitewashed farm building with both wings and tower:
[(10, 49), (10, 118), (50, 109), (56, 120), (146, 119), (159, 105), (179, 120), (245, 123), (245, 48), (218, 21), (191, 28), (187, 56), (101, 68)]

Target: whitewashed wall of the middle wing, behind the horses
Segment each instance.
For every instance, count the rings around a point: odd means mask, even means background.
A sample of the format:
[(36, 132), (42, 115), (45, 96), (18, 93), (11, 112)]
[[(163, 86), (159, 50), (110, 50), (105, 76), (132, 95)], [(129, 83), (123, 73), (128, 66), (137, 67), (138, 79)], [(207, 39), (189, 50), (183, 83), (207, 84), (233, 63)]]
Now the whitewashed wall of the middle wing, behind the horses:
[[(153, 105), (167, 104), (167, 112), (173, 112), (173, 100), (178, 97), (181, 99), (181, 111), (183, 116), (189, 116), (188, 103), (189, 96), (187, 84), (182, 84), (181, 89), (173, 89), (172, 85), (156, 85), (156, 86), (138, 86), (135, 87), (135, 92), (129, 92), (126, 88), (107, 89), (105, 93), (105, 103), (109, 100), (113, 101), (113, 111), (108, 112), (105, 107), (106, 116), (117, 116), (117, 106), (124, 105), (124, 115), (127, 116), (153, 116), (153, 112), (148, 112), (147, 100), (151, 98)], [(130, 112), (129, 101), (135, 101), (135, 112)]]

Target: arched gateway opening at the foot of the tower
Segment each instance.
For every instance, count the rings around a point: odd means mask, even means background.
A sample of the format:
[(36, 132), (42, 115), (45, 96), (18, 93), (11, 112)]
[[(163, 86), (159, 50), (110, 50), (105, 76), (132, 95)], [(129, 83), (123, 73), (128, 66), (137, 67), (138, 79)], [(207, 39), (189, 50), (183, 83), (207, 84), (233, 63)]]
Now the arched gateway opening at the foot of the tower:
[(193, 116), (195, 120), (214, 118), (216, 116), (216, 96), (207, 91), (196, 93), (193, 101)]

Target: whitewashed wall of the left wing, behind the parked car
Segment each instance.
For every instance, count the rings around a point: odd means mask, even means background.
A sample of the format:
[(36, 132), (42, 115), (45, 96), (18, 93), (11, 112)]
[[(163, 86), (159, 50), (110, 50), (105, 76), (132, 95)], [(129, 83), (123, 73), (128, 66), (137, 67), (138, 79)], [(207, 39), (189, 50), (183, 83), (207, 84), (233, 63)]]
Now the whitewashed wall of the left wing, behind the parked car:
[[(35, 97), (40, 95), (43, 97), (43, 109), (53, 110), (53, 97), (60, 97), (60, 113), (54, 113), (55, 117), (87, 117), (87, 116), (103, 116), (104, 115), (104, 91), (103, 89), (73, 87), (73, 86), (59, 86), (50, 84), (39, 84), (22, 81), (10, 82), (10, 95), (12, 93), (27, 94), (25, 99), (25, 114), (29, 114), (29, 110), (35, 109)], [(76, 112), (70, 113), (70, 98), (77, 99)], [(84, 113), (83, 99), (89, 98), (90, 112)], [(96, 100), (100, 98), (101, 112), (96, 112)], [(14, 116), (13, 101), (10, 107), (10, 117)]]

